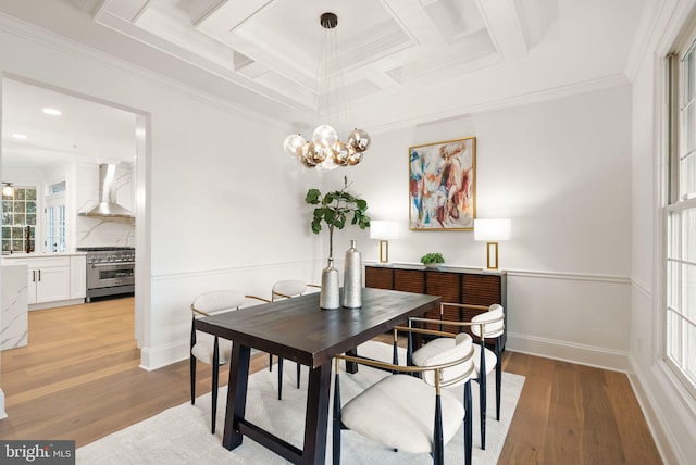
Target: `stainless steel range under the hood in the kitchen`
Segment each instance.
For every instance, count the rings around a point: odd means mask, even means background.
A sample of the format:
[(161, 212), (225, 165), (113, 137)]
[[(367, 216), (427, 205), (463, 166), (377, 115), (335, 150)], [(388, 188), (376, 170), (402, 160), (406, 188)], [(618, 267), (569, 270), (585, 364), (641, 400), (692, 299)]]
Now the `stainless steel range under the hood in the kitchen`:
[(87, 252), (87, 302), (94, 297), (135, 291), (135, 249), (124, 247), (78, 248)]

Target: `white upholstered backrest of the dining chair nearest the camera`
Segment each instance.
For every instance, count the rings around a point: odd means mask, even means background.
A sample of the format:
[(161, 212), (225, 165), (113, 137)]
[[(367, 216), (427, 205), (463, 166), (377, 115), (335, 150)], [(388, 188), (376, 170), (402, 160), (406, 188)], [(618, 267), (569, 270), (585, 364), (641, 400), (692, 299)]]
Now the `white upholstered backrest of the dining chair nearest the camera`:
[[(472, 339), (467, 332), (460, 332), (456, 338), (437, 338), (427, 342), (419, 350), (413, 352), (413, 365), (417, 366), (432, 366), (439, 365), (447, 362), (453, 362), (456, 360), (467, 356), (472, 350)], [(451, 368), (445, 368), (440, 378), (440, 382), (447, 384), (457, 379), (464, 373), (469, 372), (473, 360), (465, 363), (452, 366)], [(435, 385), (435, 372), (424, 372), (423, 380), (431, 386)], [(452, 386), (461, 385), (467, 379), (462, 379)]]

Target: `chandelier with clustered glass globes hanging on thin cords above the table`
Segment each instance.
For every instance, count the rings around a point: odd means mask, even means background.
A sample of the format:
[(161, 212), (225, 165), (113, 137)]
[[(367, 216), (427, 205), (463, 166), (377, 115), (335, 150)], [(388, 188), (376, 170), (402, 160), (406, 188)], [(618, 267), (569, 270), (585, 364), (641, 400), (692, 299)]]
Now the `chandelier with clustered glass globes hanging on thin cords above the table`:
[[(328, 113), (332, 103), (337, 101), (337, 86), (331, 87), (337, 77), (340, 77), (338, 70), (338, 58), (335, 47), (334, 28), (338, 25), (338, 16), (334, 13), (324, 13), (320, 17), (320, 25), (326, 32), (326, 41), (322, 48), (320, 68), (318, 73), (318, 89), (315, 99), (315, 110), (324, 110)], [(332, 63), (333, 61), (333, 63)], [(322, 79), (322, 77), (327, 77)], [(320, 104), (319, 97), (322, 95), (319, 86), (324, 83), (328, 85), (325, 92), (326, 101)], [(332, 99), (334, 102), (332, 102)], [(330, 171), (338, 166), (353, 166), (362, 161), (363, 153), (370, 147), (370, 135), (363, 129), (353, 129), (348, 134), (346, 141), (338, 137), (338, 133), (328, 124), (320, 124), (312, 133), (311, 139), (304, 139), (300, 134), (291, 134), (285, 138), (283, 149), (290, 158), (297, 159), (308, 168)]]

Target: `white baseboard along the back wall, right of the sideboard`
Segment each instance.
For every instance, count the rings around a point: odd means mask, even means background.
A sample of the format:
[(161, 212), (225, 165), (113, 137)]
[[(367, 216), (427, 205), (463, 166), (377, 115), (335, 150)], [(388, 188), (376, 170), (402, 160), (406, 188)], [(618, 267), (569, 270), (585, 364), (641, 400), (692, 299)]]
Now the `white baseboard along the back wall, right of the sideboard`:
[(629, 353), (508, 332), (506, 350), (626, 373)]

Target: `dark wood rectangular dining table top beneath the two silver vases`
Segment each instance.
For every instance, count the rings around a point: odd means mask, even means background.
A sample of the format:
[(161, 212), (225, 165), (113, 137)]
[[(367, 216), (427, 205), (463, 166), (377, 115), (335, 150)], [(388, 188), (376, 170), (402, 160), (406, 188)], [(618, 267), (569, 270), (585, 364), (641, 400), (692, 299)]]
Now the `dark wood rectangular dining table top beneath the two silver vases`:
[(362, 289), (362, 307), (322, 310), (319, 292), (254, 305), (196, 321), (196, 328), (235, 343), (282, 355), (312, 368), (439, 307), (440, 298)]

